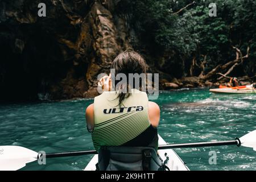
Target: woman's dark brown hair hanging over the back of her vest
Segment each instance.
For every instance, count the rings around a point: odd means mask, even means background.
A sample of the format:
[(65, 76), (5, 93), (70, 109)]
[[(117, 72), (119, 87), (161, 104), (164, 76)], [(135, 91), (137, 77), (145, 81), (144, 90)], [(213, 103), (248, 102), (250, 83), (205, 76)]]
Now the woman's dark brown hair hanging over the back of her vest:
[[(141, 73), (146, 73), (146, 62), (143, 59), (139, 53), (131, 50), (126, 50), (125, 52), (120, 53), (117, 57), (115, 57), (113, 63), (112, 63), (112, 69), (115, 70), (116, 76), (118, 73), (123, 73), (126, 75), (127, 78), (129, 78), (129, 73), (138, 73), (139, 75)], [(129, 81), (127, 81), (129, 82)], [(115, 81), (115, 86), (117, 86), (118, 81)], [(134, 85), (126, 84), (127, 90), (129, 90), (130, 87), (134, 88)], [(120, 88), (116, 88), (120, 89)], [(128, 98), (130, 96), (130, 93), (123, 93), (120, 92), (118, 94), (119, 103), (118, 105), (122, 105), (122, 101), (125, 100), (125, 98)]]

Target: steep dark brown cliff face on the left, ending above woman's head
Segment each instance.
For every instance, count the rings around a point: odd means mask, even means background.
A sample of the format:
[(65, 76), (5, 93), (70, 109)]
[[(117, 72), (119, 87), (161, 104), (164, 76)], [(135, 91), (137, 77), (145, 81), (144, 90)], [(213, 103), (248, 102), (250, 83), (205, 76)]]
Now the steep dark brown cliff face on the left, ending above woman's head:
[(106, 1), (0, 2), (0, 100), (91, 97), (99, 73), (132, 48), (125, 19)]

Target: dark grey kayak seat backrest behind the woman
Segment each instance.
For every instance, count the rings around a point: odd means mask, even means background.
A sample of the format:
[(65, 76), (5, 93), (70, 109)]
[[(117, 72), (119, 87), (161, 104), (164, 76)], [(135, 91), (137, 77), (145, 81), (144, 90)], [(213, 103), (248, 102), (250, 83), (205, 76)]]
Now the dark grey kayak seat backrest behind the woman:
[(166, 171), (169, 158), (163, 162), (151, 147), (101, 147), (98, 171)]

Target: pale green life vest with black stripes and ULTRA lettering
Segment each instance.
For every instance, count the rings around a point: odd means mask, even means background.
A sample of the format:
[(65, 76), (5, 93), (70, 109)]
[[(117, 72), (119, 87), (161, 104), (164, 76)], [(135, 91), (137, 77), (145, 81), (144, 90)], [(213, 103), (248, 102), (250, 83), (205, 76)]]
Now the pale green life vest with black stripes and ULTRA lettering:
[(94, 98), (94, 130), (92, 140), (96, 150), (101, 146), (158, 147), (157, 130), (148, 119), (147, 94), (132, 89), (122, 105), (115, 91)]

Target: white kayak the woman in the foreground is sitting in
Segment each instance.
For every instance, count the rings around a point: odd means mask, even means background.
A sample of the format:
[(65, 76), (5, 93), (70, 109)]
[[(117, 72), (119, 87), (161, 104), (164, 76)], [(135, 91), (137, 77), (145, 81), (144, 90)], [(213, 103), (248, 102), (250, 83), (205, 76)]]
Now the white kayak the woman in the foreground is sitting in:
[[(160, 135), (158, 135), (158, 144), (164, 145), (167, 144)], [(163, 161), (166, 159), (166, 155), (169, 157), (169, 160), (166, 164), (166, 166), (171, 171), (189, 171), (189, 168), (186, 166), (186, 164), (181, 160), (179, 155), (173, 150), (173, 149), (164, 149), (164, 150), (158, 150), (158, 153), (160, 157), (163, 159)], [(96, 170), (96, 164), (98, 163), (98, 154), (94, 155), (93, 158), (90, 160), (90, 162), (85, 167), (84, 171), (95, 171)]]

